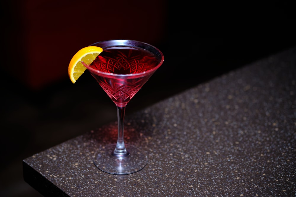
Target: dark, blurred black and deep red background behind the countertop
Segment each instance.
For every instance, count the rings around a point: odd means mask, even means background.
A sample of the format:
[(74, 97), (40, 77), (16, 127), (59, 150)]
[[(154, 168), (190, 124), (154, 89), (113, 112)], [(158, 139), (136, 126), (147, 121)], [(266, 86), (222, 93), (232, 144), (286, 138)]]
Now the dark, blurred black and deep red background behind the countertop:
[(22, 179), (22, 159), (117, 120), (88, 72), (70, 82), (67, 66), (80, 48), (123, 38), (163, 51), (163, 66), (127, 105), (129, 115), (296, 46), (295, 12), (283, 2), (4, 0), (1, 26), (0, 196), (40, 196)]

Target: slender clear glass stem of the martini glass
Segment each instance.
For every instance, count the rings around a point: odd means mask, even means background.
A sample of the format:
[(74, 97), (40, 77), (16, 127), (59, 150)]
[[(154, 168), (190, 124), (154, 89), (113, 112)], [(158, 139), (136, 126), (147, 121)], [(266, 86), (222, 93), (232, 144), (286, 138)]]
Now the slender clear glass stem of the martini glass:
[(119, 107), (117, 106), (117, 121), (118, 121), (118, 137), (117, 143), (114, 151), (112, 152), (115, 156), (127, 156), (129, 155), (128, 151), (124, 146), (124, 139), (123, 139), (123, 126), (124, 126), (124, 114), (126, 111), (126, 106)]

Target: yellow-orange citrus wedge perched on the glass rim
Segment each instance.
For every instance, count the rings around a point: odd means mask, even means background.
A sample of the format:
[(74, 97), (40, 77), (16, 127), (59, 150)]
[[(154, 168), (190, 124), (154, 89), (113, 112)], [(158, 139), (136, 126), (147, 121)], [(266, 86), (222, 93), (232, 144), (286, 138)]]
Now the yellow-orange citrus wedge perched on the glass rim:
[(75, 83), (86, 70), (86, 67), (81, 62), (83, 61), (85, 64), (90, 65), (102, 51), (103, 49), (97, 46), (87, 46), (80, 49), (72, 57), (68, 66), (68, 75), (71, 82)]

